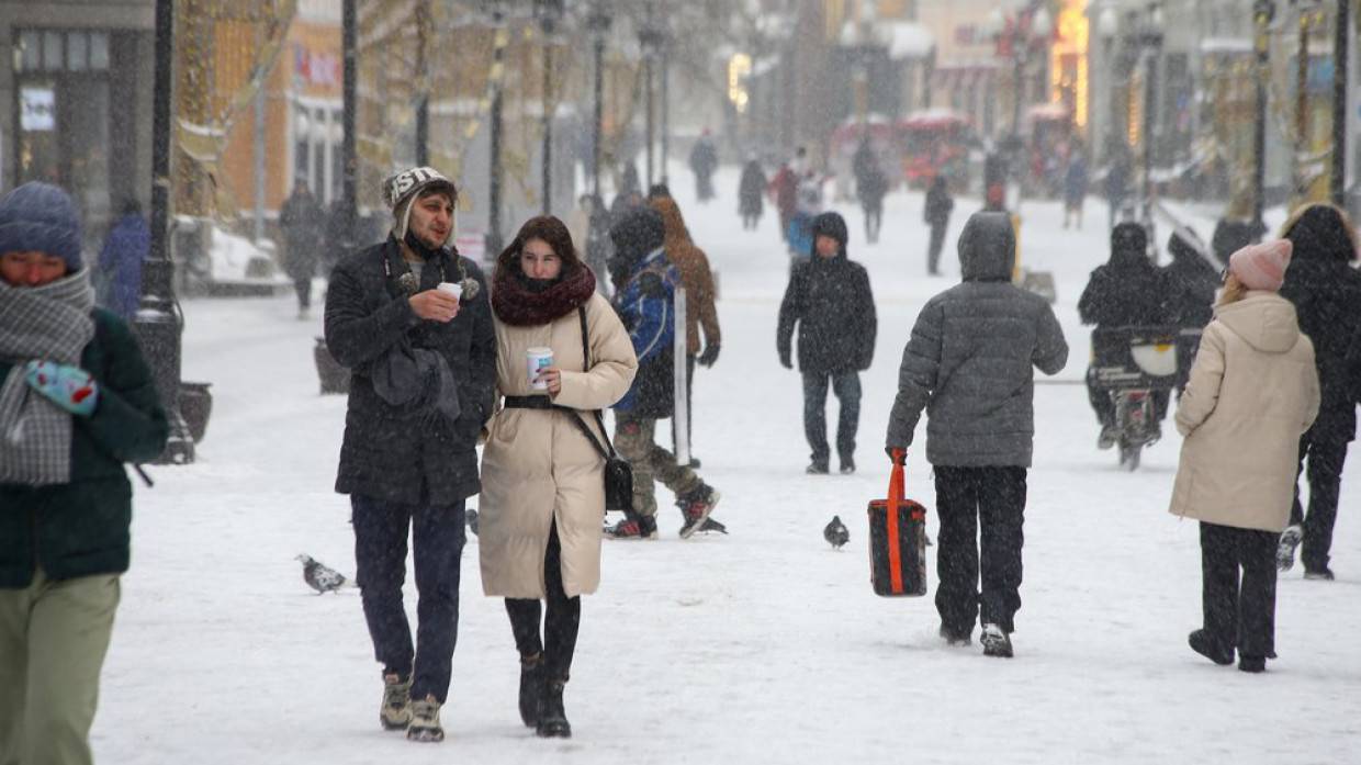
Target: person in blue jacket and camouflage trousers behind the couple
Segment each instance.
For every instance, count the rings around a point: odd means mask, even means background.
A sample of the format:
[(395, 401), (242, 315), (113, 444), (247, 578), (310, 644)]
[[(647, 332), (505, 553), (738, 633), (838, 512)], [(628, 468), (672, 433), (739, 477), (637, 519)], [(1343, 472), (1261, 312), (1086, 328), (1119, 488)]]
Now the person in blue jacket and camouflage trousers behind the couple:
[(667, 260), (666, 226), (656, 210), (637, 210), (610, 229), (614, 259), (614, 309), (629, 331), (638, 374), (629, 392), (614, 404), (614, 445), (633, 466), (633, 508), (607, 530), (615, 539), (657, 538), (656, 481), (676, 495), (683, 523), (680, 538), (698, 531), (721, 531), (709, 515), (719, 491), (675, 455), (659, 446), (659, 419), (675, 415), (675, 289), (680, 282)]

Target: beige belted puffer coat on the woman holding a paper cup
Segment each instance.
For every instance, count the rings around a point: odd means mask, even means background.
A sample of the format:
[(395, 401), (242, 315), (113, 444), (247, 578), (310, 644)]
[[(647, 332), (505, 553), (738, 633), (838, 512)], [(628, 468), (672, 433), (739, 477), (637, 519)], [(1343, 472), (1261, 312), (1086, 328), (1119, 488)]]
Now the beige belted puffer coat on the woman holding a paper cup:
[[(562, 370), (555, 404), (606, 408), (629, 391), (638, 370), (633, 342), (614, 308), (599, 294), (587, 302), (591, 370), (581, 372), (577, 312), (539, 327), (495, 321), (497, 389), (504, 396), (546, 395), (529, 388), (525, 350), (551, 347)], [(499, 400), (499, 399), (498, 399)], [(543, 557), (558, 521), (562, 585), (568, 598), (595, 592), (600, 583), (600, 527), (604, 519), (604, 459), (572, 422), (572, 412), (508, 408), (487, 425), (478, 502), (482, 591), (502, 598), (544, 598)], [(602, 441), (603, 444), (603, 441)]]

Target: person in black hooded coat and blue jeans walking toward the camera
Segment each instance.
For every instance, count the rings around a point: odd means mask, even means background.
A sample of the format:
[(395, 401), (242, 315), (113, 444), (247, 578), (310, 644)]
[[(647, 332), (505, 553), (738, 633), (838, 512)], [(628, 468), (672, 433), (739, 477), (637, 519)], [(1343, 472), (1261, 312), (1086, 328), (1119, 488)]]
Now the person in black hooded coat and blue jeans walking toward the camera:
[(803, 429), (813, 448), (810, 474), (826, 474), (827, 381), (841, 402), (837, 455), (841, 472), (855, 472), (855, 436), (860, 425), (860, 372), (874, 361), (878, 327), (870, 274), (847, 257), (847, 222), (836, 212), (813, 221), (813, 257), (793, 265), (780, 302), (776, 347), (780, 363), (793, 369), (791, 339), (799, 325), (803, 373)]

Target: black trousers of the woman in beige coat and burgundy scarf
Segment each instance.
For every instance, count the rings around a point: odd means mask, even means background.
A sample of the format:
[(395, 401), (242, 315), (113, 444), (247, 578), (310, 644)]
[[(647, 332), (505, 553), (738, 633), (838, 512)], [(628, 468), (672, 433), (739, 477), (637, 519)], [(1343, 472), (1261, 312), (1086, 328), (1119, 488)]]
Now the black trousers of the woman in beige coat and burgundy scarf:
[(562, 543), (558, 524), (548, 530), (548, 550), (543, 555), (543, 587), (548, 596), (548, 615), (539, 637), (539, 618), (543, 608), (534, 598), (506, 598), (510, 632), (520, 656), (543, 653), (543, 668), (550, 679), (568, 681), (572, 656), (577, 651), (577, 630), (581, 626), (581, 596), (568, 598), (562, 589)]

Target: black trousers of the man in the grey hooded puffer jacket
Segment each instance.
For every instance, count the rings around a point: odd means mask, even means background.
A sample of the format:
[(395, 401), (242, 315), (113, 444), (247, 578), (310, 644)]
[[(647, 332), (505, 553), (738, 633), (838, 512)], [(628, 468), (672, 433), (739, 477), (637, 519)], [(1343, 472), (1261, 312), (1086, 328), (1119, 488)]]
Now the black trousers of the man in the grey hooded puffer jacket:
[(981, 607), (983, 623), (1010, 633), (1021, 610), (1026, 470), (935, 466), (934, 471), (940, 622), (955, 634), (969, 634)]

